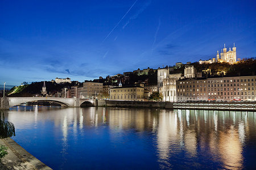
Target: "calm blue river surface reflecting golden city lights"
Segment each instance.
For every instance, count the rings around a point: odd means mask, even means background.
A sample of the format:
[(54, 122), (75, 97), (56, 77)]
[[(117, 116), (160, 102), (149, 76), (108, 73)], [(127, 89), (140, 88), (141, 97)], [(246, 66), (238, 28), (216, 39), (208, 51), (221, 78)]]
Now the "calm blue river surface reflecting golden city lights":
[(16, 106), (13, 139), (53, 169), (255, 169), (256, 113)]

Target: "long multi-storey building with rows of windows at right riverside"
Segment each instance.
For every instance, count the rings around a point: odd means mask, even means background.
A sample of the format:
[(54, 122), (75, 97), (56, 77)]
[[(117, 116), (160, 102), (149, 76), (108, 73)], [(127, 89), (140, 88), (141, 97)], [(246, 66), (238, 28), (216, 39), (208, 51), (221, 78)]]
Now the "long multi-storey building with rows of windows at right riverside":
[(177, 101), (255, 101), (256, 76), (177, 81)]

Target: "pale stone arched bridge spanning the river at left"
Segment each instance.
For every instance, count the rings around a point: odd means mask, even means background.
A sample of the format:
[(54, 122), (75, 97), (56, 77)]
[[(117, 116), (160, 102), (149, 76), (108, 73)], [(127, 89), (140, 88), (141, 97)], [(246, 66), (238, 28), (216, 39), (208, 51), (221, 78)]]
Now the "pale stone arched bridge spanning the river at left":
[(97, 106), (95, 99), (61, 98), (61, 97), (5, 97), (1, 98), (1, 109), (9, 109), (21, 103), (32, 101), (52, 101), (65, 107)]

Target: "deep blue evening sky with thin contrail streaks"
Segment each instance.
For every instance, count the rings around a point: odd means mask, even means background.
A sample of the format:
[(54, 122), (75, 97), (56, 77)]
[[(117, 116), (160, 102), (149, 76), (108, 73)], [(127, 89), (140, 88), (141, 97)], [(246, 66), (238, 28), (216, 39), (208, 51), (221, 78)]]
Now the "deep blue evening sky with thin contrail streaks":
[(255, 57), (256, 1), (0, 1), (0, 84)]

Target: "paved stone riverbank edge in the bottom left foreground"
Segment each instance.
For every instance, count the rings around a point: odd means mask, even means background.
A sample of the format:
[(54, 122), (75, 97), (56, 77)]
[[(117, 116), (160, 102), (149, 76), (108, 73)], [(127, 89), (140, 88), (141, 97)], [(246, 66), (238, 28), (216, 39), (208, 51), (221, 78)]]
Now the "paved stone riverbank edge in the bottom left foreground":
[(0, 139), (0, 144), (8, 147), (8, 154), (2, 159), (0, 169), (51, 169), (11, 138)]

